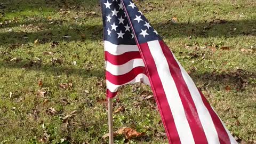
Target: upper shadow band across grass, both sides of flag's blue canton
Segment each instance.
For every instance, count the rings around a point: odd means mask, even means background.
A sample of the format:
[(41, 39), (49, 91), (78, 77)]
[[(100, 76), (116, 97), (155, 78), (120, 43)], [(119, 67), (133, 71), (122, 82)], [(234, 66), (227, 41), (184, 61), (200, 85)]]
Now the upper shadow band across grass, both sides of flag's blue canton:
[[(39, 41), (85, 41), (90, 39), (99, 41), (103, 38), (102, 25), (62, 25), (63, 21), (27, 21), (23, 24), (39, 26), (45, 30), (36, 32), (6, 32), (0, 33), (0, 45), (10, 45), (14, 43), (33, 43), (35, 38)], [(173, 23), (166, 21), (153, 25), (158, 29), (163, 38), (207, 38), (207, 37), (224, 37), (232, 38), (239, 36), (256, 36), (256, 20), (233, 20), (233, 21), (214, 21), (198, 23)], [(20, 23), (20, 25), (23, 25)], [(70, 29), (70, 27), (72, 29)], [(63, 36), (70, 36), (65, 38)]]

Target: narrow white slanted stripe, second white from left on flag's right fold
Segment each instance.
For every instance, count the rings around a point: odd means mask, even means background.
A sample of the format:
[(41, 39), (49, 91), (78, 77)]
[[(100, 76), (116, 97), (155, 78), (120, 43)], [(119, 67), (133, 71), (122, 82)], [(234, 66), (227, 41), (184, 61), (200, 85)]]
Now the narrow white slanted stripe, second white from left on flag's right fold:
[[(172, 55), (175, 58), (173, 53), (172, 53)], [(215, 129), (215, 126), (214, 126), (214, 123), (212, 121), (212, 117), (211, 117), (209, 111), (207, 110), (207, 108), (204, 105), (204, 102), (201, 98), (201, 94), (199, 93), (199, 91), (197, 89), (197, 86), (195, 85), (195, 83), (193, 82), (191, 77), (188, 75), (186, 70), (180, 65), (179, 61), (176, 58), (175, 58), (175, 60), (177, 61), (178, 65), (181, 69), (182, 77), (183, 77), (184, 81), (186, 82), (186, 84), (188, 86), (188, 90), (191, 94), (191, 97), (192, 97), (194, 103), (195, 103), (196, 110), (197, 110), (199, 119), (202, 123), (204, 133), (206, 135), (206, 139), (207, 139), (208, 143), (209, 144), (219, 144), (220, 142), (219, 142), (217, 130)]]

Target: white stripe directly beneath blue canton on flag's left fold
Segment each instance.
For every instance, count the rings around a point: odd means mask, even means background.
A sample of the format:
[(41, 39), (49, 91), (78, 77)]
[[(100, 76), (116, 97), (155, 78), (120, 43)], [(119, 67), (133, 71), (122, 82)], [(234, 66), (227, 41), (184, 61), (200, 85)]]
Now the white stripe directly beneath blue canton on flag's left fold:
[(105, 51), (113, 55), (121, 55), (125, 52), (139, 52), (137, 45), (116, 45), (109, 41), (104, 41)]

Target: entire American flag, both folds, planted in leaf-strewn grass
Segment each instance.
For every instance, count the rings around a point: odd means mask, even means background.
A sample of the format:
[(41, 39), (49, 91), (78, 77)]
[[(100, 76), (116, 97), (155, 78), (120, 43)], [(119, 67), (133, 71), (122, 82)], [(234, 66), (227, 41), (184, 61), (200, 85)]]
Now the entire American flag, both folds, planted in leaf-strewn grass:
[(101, 3), (107, 97), (142, 81), (151, 85), (170, 143), (237, 143), (138, 7), (131, 0)]

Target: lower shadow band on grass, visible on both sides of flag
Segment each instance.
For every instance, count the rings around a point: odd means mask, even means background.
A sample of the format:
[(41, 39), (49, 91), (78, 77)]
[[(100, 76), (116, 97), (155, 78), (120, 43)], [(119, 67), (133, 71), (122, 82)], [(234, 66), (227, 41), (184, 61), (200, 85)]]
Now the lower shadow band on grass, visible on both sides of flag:
[[(95, 69), (93, 67), (87, 68), (72, 68), (68, 66), (63, 66), (59, 64), (43, 64), (37, 62), (4, 62), (0, 61), (1, 68), (6, 69), (25, 69), (25, 70), (36, 70), (43, 71), (44, 73), (49, 73), (51, 75), (59, 76), (61, 74), (76, 75), (84, 78), (88, 77), (98, 77), (99, 79), (105, 78), (105, 69)], [(251, 71), (246, 71), (242, 69), (237, 69), (233, 71), (225, 71), (222, 73), (191, 73), (190, 76), (196, 83), (203, 83), (201, 89), (206, 89), (206, 87), (214, 87), (214, 89), (234, 89), (236, 91), (243, 91), (248, 85), (256, 86), (255, 79), (256, 73)], [(254, 83), (253, 83), (254, 82)], [(229, 87), (226, 87), (229, 86)]]

